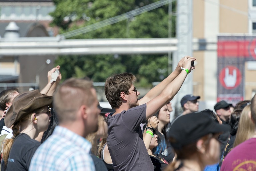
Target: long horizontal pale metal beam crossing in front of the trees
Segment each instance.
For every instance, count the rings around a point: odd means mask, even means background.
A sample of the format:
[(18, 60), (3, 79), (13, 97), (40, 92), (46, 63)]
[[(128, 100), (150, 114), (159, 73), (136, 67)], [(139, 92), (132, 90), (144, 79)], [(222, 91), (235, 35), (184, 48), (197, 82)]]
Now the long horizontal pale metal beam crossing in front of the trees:
[[(217, 40), (193, 39), (193, 50), (217, 50)], [(167, 54), (177, 51), (176, 38), (140, 39), (0, 39), (0, 55), (91, 55), (91, 54)]]

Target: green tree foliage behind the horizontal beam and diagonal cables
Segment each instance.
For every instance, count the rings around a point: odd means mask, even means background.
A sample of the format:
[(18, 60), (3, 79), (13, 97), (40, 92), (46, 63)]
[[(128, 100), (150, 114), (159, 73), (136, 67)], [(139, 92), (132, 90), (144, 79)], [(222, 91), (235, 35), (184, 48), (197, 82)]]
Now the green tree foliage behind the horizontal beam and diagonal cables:
[[(65, 33), (84, 27), (157, 0), (53, 0), (56, 10), (51, 13), (53, 25)], [(175, 2), (172, 10), (175, 12)], [(127, 23), (129, 23), (127, 25)], [(172, 28), (175, 17), (172, 18)], [(128, 29), (128, 30), (127, 30)], [(172, 36), (175, 30), (172, 29)], [(128, 21), (81, 34), (74, 38), (161, 38), (168, 37), (168, 5), (137, 15)], [(72, 55), (59, 56), (56, 64), (61, 66), (63, 80), (69, 77), (89, 77), (95, 82), (104, 82), (114, 73), (131, 72), (140, 86), (161, 81), (167, 76), (167, 55)]]

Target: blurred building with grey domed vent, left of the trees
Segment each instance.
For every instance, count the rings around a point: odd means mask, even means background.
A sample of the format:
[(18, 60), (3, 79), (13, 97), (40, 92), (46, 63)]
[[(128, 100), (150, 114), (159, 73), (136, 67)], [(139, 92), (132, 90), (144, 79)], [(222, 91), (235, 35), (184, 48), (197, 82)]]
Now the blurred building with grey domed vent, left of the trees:
[[(18, 37), (56, 36), (58, 29), (50, 26), (52, 17), (49, 15), (54, 10), (52, 0), (0, 0), (2, 40), (13, 41), (13, 33)], [(30, 87), (42, 89), (47, 84), (47, 72), (54, 67), (55, 58), (42, 55), (0, 56), (0, 90), (15, 86), (3, 83), (28, 83), (20, 84), (21, 91)], [(51, 62), (46, 62), (47, 59)], [(38, 83), (36, 77), (40, 78)]]

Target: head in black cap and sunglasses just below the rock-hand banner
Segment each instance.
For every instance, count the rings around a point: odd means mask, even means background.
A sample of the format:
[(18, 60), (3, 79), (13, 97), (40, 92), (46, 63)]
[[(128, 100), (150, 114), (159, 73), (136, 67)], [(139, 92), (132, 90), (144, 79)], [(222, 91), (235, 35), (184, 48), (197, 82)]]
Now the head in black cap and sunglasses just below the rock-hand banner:
[(224, 123), (228, 123), (228, 120), (231, 116), (230, 106), (232, 106), (232, 104), (229, 104), (224, 100), (216, 103), (214, 106), (214, 110)]

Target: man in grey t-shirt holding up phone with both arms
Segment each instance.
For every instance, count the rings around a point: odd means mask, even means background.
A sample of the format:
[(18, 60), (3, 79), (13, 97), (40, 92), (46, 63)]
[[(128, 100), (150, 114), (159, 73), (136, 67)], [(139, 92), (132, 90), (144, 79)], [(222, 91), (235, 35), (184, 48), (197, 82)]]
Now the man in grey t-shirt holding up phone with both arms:
[[(147, 170), (154, 167), (143, 142), (140, 128), (153, 114), (179, 91), (186, 76), (194, 67), (193, 57), (185, 56), (166, 79), (138, 100), (131, 73), (115, 74), (105, 82), (105, 95), (115, 113), (108, 115), (108, 149), (115, 171)], [(146, 130), (153, 131), (151, 127)]]

